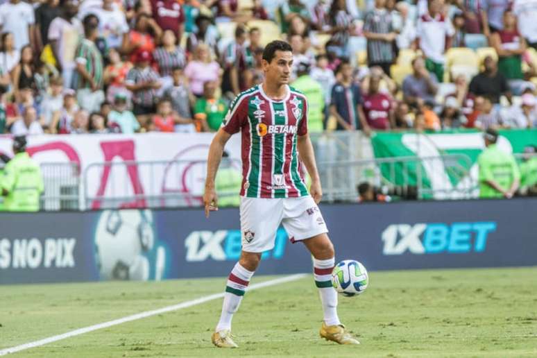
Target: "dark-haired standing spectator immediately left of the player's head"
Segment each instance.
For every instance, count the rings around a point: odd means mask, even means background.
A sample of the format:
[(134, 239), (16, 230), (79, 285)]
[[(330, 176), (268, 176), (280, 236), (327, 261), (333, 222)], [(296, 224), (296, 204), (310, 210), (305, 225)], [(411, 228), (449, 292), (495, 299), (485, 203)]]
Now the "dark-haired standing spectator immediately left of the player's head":
[(248, 49), (247, 30), (245, 26), (237, 26), (235, 40), (230, 42), (223, 54), (222, 92), (237, 96), (244, 88), (244, 71), (253, 67), (253, 53)]

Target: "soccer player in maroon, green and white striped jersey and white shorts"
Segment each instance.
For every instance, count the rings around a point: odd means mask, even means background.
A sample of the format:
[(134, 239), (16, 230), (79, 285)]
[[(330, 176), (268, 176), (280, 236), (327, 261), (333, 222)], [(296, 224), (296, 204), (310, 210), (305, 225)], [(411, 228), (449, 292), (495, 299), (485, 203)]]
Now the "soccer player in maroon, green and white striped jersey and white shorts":
[[(263, 52), (264, 82), (242, 92), (231, 103), (222, 127), (214, 136), (207, 160), (205, 215), (218, 210), (214, 178), (225, 143), (241, 132), (243, 180), (241, 186), (242, 251), (233, 267), (222, 313), (212, 343), (235, 348), (231, 321), (252, 278), (262, 252), (274, 247), (280, 223), (291, 241), (302, 241), (314, 257), (314, 278), (323, 305), (321, 337), (341, 344), (359, 344), (337, 316), (337, 293), (330, 274), (334, 246), (317, 204), (321, 201), (312, 142), (307, 133), (307, 101), (289, 87), (293, 53), (287, 42), (273, 41)], [(298, 170), (305, 165), (312, 185), (307, 191)]]

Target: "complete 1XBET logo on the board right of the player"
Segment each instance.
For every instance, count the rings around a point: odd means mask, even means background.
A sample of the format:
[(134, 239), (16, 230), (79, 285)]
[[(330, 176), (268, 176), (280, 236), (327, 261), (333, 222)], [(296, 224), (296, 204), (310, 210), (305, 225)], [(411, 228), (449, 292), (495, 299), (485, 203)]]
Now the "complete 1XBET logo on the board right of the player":
[(409, 253), (423, 255), (434, 253), (481, 253), (496, 223), (416, 223), (389, 225), (382, 232), (384, 255)]

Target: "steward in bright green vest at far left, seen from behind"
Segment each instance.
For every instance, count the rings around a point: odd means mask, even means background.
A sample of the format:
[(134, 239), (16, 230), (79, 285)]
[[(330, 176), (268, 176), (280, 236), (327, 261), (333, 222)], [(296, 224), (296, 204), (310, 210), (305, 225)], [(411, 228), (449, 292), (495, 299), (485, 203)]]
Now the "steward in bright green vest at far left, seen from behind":
[(26, 153), (26, 137), (13, 139), (15, 157), (6, 164), (0, 177), (3, 208), (13, 212), (37, 212), (44, 190), (41, 169)]

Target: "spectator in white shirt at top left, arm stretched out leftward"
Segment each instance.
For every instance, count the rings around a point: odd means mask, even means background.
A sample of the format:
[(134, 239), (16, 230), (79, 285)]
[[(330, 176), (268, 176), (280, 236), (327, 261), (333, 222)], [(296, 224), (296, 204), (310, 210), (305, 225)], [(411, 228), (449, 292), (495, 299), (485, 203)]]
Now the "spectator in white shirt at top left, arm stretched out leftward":
[(117, 6), (114, 0), (102, 0), (102, 6), (93, 8), (81, 17), (94, 14), (99, 18), (99, 37), (105, 40), (107, 49), (120, 49), (128, 37), (128, 24), (125, 13)]

